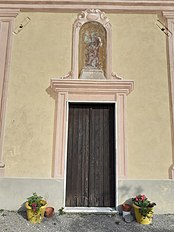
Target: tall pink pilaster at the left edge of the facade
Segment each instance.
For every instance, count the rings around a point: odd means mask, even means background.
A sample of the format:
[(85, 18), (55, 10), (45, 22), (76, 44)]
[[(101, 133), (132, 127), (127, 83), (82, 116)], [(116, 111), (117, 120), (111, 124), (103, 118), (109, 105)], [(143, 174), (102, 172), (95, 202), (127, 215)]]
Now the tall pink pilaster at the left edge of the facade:
[(14, 19), (19, 10), (0, 9), (0, 176), (4, 174), (3, 138)]

